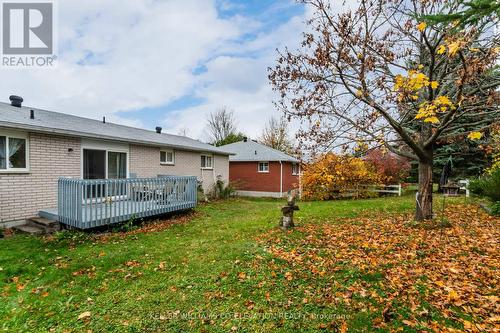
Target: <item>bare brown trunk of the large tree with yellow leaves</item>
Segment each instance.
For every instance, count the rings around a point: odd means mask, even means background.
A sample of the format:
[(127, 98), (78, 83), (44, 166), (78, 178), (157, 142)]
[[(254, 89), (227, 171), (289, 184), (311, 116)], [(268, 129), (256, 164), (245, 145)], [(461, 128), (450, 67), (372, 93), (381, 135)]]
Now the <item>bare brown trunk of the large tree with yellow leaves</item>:
[(418, 163), (418, 193), (415, 220), (432, 220), (432, 157)]

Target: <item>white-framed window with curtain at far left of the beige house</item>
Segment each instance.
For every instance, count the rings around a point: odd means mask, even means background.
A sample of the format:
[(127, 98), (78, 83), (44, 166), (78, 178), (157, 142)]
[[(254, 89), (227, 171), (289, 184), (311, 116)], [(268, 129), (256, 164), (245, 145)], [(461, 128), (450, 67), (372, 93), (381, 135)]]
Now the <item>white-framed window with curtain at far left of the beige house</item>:
[(0, 171), (28, 171), (28, 140), (0, 135)]

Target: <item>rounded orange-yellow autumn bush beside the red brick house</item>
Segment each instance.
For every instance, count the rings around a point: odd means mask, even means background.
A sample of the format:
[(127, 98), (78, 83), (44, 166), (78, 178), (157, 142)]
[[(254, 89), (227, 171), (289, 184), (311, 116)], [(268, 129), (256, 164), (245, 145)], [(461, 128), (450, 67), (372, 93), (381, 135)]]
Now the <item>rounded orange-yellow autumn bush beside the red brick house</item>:
[[(362, 189), (363, 185), (381, 181), (373, 165), (349, 155), (324, 154), (305, 165), (303, 171), (302, 197), (306, 200), (338, 198), (343, 193)], [(357, 196), (365, 197), (369, 193), (361, 190)]]

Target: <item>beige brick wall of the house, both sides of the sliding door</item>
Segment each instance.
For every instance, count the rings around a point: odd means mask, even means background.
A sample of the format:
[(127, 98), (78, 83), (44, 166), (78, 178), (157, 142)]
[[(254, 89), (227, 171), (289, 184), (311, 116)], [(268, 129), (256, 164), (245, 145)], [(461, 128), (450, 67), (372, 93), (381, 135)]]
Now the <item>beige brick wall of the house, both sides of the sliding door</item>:
[[(68, 149), (72, 148), (72, 152)], [(80, 138), (29, 134), (29, 173), (0, 173), (0, 222), (35, 216), (40, 209), (57, 206), (59, 177), (81, 177)], [(175, 165), (160, 164), (160, 148), (129, 146), (130, 173), (137, 177), (159, 174), (196, 176), (210, 190), (217, 175), (229, 181), (227, 156), (214, 155), (214, 169), (201, 170), (201, 153), (175, 150)]]

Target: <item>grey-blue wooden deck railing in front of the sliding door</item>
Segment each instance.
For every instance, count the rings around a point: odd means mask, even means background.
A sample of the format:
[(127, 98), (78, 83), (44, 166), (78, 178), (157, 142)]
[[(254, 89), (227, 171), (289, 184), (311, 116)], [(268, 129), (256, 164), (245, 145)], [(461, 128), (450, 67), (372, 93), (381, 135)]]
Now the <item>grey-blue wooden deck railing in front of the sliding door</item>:
[(87, 229), (189, 209), (197, 202), (196, 177), (131, 179), (60, 178), (59, 222)]

